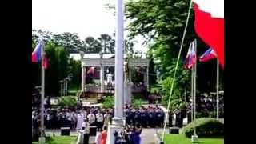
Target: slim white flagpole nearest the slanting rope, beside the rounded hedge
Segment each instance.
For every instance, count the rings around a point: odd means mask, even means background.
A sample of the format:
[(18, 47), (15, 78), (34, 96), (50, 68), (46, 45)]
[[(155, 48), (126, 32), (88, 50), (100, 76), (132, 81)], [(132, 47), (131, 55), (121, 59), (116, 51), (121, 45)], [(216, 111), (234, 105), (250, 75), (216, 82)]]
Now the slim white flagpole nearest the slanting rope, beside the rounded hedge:
[[(194, 52), (196, 55), (196, 61), (194, 63), (194, 120), (196, 119), (196, 80), (197, 80), (197, 40), (194, 39)], [(194, 127), (194, 135), (196, 135), (196, 128)]]

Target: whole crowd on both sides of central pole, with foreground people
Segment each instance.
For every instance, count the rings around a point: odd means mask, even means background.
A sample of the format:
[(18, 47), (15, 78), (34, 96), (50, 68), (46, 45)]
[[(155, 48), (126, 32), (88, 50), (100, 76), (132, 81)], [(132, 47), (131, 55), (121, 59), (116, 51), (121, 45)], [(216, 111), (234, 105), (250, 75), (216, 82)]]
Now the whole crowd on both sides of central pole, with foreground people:
[[(158, 106), (147, 106), (134, 108), (131, 105), (124, 106), (126, 117), (126, 128), (122, 132), (116, 133), (116, 143), (134, 143), (140, 142), (139, 134), (142, 127), (161, 127), (164, 122), (164, 112)], [(98, 106), (82, 106), (78, 102), (76, 108), (47, 108), (44, 111), (44, 122), (46, 129), (60, 129), (61, 127), (70, 127), (71, 130), (77, 130), (82, 141), (78, 143), (87, 143), (89, 140), (90, 126), (96, 126), (97, 134), (100, 136), (96, 139), (98, 143), (106, 141), (106, 131), (108, 123), (112, 122), (114, 109), (102, 109)], [(34, 131), (39, 132), (40, 128), (40, 110), (32, 109), (32, 124)], [(119, 140), (118, 140), (119, 139)], [(96, 142), (96, 143), (97, 143)], [(104, 142), (103, 142), (104, 143)]]

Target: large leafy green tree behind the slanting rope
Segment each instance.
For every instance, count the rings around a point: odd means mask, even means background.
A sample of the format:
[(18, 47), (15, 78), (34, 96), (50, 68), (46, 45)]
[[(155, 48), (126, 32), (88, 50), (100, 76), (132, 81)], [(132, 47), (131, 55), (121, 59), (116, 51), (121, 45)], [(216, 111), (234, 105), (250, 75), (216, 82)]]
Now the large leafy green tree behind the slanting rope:
[[(130, 31), (129, 37), (136, 38), (138, 35), (142, 35), (146, 39), (149, 58), (154, 59), (154, 62), (158, 61), (155, 65), (160, 71), (162, 90), (170, 90), (170, 86), (165, 85), (167, 85), (166, 81), (170, 81), (174, 76), (189, 4), (189, 0), (138, 0), (126, 3), (126, 18), (130, 21), (127, 27)], [(180, 98), (185, 90), (190, 89), (190, 71), (184, 70), (183, 59), (185, 59), (188, 46), (194, 38), (197, 36), (194, 32), (192, 10), (175, 79), (174, 95), (179, 95), (177, 98)], [(197, 39), (199, 55), (208, 46), (200, 38)], [(216, 70), (216, 65), (214, 66), (214, 63), (214, 61), (198, 62), (198, 92), (215, 90), (216, 72), (213, 71)], [(220, 75), (223, 78), (222, 74)], [(222, 80), (220, 81), (222, 82)], [(221, 84), (221, 86), (223, 85)]]

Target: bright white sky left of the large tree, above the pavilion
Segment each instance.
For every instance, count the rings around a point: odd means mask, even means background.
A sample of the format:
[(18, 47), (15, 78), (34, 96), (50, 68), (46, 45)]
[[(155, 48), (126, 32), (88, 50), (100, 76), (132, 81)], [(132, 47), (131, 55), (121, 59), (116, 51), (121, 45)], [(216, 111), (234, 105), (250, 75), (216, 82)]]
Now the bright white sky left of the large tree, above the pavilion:
[[(110, 34), (115, 30), (115, 18), (104, 4), (114, 0), (33, 0), (32, 28), (59, 34), (78, 33), (80, 38), (98, 38), (100, 34)], [(135, 50), (146, 52), (138, 38)]]

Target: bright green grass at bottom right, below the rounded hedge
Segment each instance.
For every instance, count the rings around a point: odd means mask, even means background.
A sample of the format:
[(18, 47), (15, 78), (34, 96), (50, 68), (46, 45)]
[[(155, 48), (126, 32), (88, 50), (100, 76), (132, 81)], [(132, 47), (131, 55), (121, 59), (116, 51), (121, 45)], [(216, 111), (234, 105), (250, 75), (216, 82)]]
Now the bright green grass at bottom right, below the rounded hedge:
[[(198, 138), (198, 143), (203, 144), (224, 144), (224, 138)], [(191, 139), (181, 134), (168, 134), (165, 143), (170, 144), (191, 144)]]

